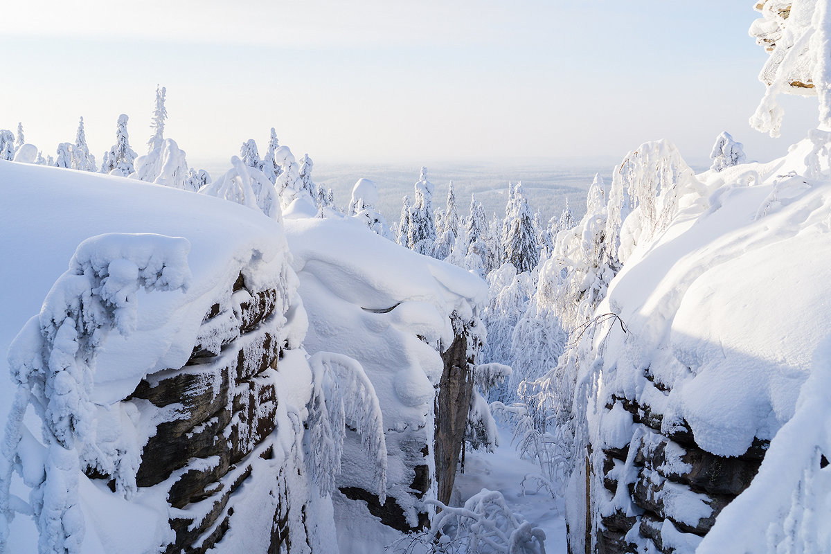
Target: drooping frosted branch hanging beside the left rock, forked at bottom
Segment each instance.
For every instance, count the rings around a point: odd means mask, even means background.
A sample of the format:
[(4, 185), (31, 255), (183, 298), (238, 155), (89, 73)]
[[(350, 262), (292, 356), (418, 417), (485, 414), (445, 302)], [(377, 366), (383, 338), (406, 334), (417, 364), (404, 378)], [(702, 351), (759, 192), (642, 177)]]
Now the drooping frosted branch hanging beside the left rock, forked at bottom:
[(309, 404), (307, 454), (312, 479), (331, 493), (340, 473), (346, 424), (354, 426), (375, 463), (381, 503), (386, 499), (386, 440), (381, 405), (363, 367), (347, 355), (317, 352), (309, 358), (314, 394)]

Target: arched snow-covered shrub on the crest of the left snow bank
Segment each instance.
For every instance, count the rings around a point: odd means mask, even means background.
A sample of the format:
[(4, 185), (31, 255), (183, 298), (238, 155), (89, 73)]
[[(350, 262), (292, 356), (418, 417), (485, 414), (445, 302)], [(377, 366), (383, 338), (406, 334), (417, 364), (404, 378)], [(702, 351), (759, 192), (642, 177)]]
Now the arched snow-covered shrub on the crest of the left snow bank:
[(231, 158), (231, 165), (233, 167), (222, 177), (199, 189), (199, 194), (240, 203), (282, 221), (278, 193), (268, 177), (258, 169), (247, 167), (237, 156)]

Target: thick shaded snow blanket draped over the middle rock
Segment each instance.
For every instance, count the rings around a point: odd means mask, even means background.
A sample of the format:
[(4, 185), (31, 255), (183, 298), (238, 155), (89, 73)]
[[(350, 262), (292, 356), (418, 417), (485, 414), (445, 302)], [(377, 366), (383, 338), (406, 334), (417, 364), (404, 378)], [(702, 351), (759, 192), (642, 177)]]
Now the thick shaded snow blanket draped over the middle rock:
[[(368, 232), (358, 218), (287, 217), (285, 227), (309, 319), (307, 351), (334, 351), (358, 360), (383, 412), (389, 454), (386, 503), (381, 507), (366, 493), (374, 483), (362, 469), (368, 460), (357, 440), (347, 441), (337, 486), (347, 498), (366, 501), (388, 526), (424, 525), (431, 508), (422, 501), (436, 497), (435, 481), (442, 478), (436, 475), (433, 450), (434, 402), (440, 402), (435, 388), (449, 365), (442, 353), (466, 337), (468, 351), (462, 351), (461, 364), (465, 357), (473, 360), (484, 332), (479, 309), (485, 284), (459, 267)], [(467, 405), (461, 408), (466, 414)], [(352, 534), (355, 522), (364, 521), (361, 517), (369, 522), (361, 503), (342, 498), (336, 513), (339, 528)], [(364, 543), (355, 537), (341, 543), (342, 552), (382, 552), (383, 540), (373, 536)]]

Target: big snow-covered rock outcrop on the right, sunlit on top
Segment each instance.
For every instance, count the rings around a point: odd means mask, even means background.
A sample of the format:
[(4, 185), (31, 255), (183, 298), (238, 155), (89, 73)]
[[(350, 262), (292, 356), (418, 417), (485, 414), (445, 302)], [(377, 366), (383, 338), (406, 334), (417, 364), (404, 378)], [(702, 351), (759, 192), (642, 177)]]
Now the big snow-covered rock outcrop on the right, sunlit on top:
[[(778, 452), (798, 406), (827, 418), (803, 388), (827, 372), (818, 349), (831, 316), (831, 179), (820, 150), (805, 140), (768, 164), (697, 175), (703, 188), (679, 196), (656, 238), (640, 232), (642, 208), (623, 222), (624, 263), (595, 315), (617, 314), (626, 331), (617, 319), (596, 326), (580, 354), (575, 400), (588, 403), (593, 478), (574, 473), (570, 492), (581, 498), (590, 483), (601, 552), (647, 542), (692, 552), (711, 529), (720, 538), (706, 552), (764, 552), (766, 543), (793, 541), (805, 529), (816, 535), (816, 527), (783, 523), (810, 511), (786, 493), (755, 493), (760, 519), (733, 507), (715, 527), (714, 518), (750, 483), (769, 441)], [(793, 427), (782, 440), (816, 444), (805, 447), (816, 454), (765, 459), (745, 494), (775, 488), (765, 464), (776, 459), (785, 472), (779, 478), (799, 487), (803, 472), (819, 472), (827, 439)], [(812, 483), (831, 491), (819, 478)], [(736, 503), (747, 507), (744, 495)], [(581, 504), (570, 507), (573, 545), (583, 541)], [(732, 547), (725, 549), (725, 537)]]

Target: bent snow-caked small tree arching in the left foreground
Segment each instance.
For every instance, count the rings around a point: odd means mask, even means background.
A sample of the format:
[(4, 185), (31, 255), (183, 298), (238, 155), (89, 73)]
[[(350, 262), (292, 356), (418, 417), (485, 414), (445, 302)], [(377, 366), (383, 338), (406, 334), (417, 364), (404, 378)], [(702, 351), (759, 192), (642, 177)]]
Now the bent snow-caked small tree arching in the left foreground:
[[(91, 401), (96, 357), (112, 332), (129, 335), (135, 329), (140, 289), (188, 287), (189, 248), (184, 238), (154, 234), (88, 238), (47, 294), (40, 315), (12, 342), (9, 365), (17, 392), (0, 457), (0, 550), (18, 509), (9, 496), (12, 472), (32, 488), (27, 509), (40, 532), (39, 552), (79, 552), (85, 527), (78, 493), (82, 470), (111, 476), (116, 491), (127, 497), (135, 493), (140, 452), (111, 451), (98, 443)], [(28, 404), (42, 419), (44, 446), (23, 425)]]

